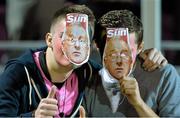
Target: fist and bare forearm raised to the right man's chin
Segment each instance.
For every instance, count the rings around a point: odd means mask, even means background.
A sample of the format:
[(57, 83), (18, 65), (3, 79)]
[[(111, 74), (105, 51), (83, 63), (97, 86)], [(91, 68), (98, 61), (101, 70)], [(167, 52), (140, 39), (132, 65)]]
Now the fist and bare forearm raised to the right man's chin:
[(139, 86), (135, 78), (123, 77), (119, 80), (119, 83), (122, 94), (127, 97), (128, 102), (137, 111), (139, 117), (158, 117), (141, 98)]

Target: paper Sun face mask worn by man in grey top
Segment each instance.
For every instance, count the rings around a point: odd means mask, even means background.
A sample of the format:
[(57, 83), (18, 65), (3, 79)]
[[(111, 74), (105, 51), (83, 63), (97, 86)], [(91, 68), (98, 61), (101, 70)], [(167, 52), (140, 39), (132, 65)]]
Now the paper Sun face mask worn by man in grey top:
[(106, 28), (106, 34), (103, 66), (116, 79), (129, 76), (134, 61), (128, 28)]

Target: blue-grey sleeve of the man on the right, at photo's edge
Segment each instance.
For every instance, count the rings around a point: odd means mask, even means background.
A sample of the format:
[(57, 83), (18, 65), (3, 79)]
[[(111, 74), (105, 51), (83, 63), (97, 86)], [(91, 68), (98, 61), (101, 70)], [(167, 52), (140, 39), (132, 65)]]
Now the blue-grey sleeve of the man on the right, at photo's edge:
[(158, 95), (159, 115), (180, 117), (180, 77), (172, 65), (164, 69), (160, 94)]

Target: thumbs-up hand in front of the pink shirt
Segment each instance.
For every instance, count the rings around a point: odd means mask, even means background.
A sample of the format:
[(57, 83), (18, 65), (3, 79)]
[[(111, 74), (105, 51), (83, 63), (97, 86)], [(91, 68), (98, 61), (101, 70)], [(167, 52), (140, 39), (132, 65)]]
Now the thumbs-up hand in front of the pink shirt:
[(35, 117), (53, 118), (53, 116), (58, 114), (58, 102), (55, 99), (55, 95), (56, 86), (52, 86), (48, 96), (40, 101), (38, 108), (35, 111)]

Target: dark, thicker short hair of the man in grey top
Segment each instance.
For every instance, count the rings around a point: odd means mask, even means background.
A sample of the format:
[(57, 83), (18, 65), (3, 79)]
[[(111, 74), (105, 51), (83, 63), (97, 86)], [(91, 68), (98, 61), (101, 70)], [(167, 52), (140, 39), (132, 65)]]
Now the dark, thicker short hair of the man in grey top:
[(113, 10), (104, 14), (97, 22), (95, 41), (100, 49), (101, 56), (104, 51), (106, 40), (102, 39), (101, 32), (106, 28), (125, 27), (129, 29), (129, 33), (135, 32), (137, 43), (143, 40), (143, 25), (141, 20), (129, 10)]

